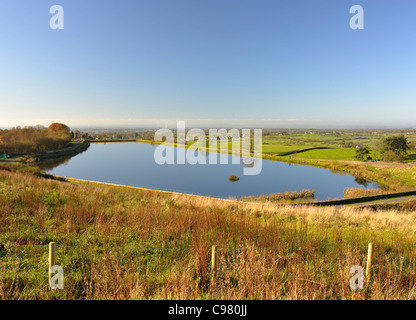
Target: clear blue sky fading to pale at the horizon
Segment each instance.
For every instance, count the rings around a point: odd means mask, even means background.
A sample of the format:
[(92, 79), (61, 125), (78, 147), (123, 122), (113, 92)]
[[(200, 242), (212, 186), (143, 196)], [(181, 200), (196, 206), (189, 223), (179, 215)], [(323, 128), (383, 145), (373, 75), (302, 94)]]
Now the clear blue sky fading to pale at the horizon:
[(416, 127), (415, 17), (414, 0), (1, 0), (0, 127)]

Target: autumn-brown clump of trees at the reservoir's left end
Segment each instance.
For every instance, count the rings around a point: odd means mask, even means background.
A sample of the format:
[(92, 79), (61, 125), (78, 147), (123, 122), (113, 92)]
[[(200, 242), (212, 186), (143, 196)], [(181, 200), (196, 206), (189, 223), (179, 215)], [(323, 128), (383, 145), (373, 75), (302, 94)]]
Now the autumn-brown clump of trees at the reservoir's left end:
[(53, 123), (49, 128), (13, 127), (0, 129), (0, 154), (41, 152), (64, 148), (71, 142), (69, 128), (61, 123)]

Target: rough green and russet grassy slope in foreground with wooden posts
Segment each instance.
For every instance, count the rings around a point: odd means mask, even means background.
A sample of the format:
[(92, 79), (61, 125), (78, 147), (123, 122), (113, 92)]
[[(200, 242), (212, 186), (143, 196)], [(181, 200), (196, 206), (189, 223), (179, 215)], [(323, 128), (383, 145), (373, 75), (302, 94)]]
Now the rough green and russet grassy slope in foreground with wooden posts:
[[(0, 208), (3, 299), (414, 299), (414, 210), (241, 204), (7, 171)], [(48, 288), (50, 241), (63, 290)], [(373, 280), (353, 291), (368, 242)]]

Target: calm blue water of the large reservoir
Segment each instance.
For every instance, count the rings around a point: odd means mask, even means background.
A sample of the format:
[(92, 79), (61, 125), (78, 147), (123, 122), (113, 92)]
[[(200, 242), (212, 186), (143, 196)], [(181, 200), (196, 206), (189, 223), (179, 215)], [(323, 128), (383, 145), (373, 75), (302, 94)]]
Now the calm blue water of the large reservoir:
[[(135, 142), (92, 143), (85, 152), (64, 163), (47, 163), (44, 169), (58, 176), (221, 198), (314, 189), (316, 199), (326, 200), (342, 198), (348, 187), (378, 187), (326, 169), (266, 160), (259, 175), (244, 176), (241, 164), (231, 164), (231, 155), (229, 164), (222, 165), (158, 165), (155, 148)], [(231, 174), (240, 181), (229, 181)]]

